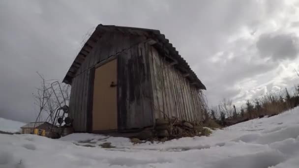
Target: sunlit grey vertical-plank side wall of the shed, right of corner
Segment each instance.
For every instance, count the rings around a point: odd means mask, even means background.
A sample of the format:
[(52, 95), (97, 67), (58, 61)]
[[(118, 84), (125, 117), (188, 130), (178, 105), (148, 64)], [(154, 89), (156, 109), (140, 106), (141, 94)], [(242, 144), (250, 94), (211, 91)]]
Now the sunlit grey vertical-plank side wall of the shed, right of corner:
[(178, 117), (202, 121), (200, 90), (191, 85), (170, 62), (149, 48), (154, 118)]

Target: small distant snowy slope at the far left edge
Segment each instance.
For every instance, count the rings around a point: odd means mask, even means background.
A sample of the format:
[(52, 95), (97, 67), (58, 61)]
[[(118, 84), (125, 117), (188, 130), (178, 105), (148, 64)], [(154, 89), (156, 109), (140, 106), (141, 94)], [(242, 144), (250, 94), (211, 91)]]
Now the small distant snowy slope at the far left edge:
[(16, 133), (21, 130), (20, 127), (24, 126), (24, 122), (13, 121), (10, 119), (5, 119), (0, 117), (0, 131)]

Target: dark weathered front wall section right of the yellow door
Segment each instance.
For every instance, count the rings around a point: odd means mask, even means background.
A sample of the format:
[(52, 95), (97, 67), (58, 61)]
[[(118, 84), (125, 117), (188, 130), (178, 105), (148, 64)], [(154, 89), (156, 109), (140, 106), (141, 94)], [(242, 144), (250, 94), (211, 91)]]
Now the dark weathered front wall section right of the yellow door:
[(153, 125), (149, 47), (133, 45), (118, 56), (119, 129)]

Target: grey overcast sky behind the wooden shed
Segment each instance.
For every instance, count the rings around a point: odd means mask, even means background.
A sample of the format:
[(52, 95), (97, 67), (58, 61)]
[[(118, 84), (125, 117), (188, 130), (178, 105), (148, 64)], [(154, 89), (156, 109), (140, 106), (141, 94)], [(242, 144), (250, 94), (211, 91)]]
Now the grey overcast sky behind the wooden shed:
[(35, 72), (62, 81), (98, 24), (159, 29), (210, 106), (299, 83), (299, 1), (0, 0), (0, 117), (34, 121)]

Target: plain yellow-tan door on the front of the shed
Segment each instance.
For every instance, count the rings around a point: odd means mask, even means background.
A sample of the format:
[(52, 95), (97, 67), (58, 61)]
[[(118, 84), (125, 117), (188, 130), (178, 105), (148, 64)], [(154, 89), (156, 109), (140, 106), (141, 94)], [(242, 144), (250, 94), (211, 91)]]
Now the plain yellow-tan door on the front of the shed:
[(115, 130), (117, 122), (117, 59), (95, 69), (92, 131)]

